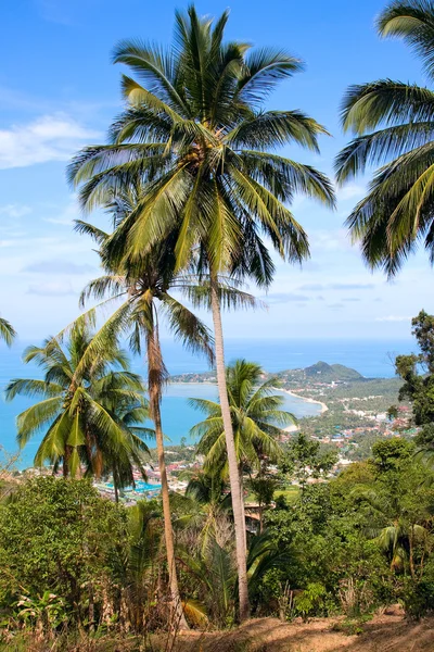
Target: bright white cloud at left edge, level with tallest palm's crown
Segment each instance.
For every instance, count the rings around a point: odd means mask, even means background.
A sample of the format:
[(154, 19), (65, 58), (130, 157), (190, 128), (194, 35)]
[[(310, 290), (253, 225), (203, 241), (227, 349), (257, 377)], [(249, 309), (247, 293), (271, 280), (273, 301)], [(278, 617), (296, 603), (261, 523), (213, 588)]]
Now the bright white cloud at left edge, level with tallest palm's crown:
[(0, 129), (0, 168), (26, 167), (48, 161), (67, 161), (79, 147), (100, 138), (64, 113)]

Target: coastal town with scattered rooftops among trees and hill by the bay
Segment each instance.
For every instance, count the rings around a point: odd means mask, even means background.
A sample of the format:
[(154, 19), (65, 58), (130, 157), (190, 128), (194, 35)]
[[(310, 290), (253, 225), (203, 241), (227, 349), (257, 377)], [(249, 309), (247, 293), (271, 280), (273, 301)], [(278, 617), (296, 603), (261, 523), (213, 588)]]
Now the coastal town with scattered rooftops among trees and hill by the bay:
[[(264, 379), (272, 377), (265, 374)], [(372, 443), (379, 438), (414, 437), (419, 428), (411, 423), (411, 410), (408, 404), (397, 404), (399, 381), (395, 378), (367, 379), (355, 369), (343, 365), (328, 365), (319, 362), (306, 369), (291, 369), (276, 375), (281, 389), (303, 397), (321, 405), (318, 416), (298, 419), (282, 431), (281, 442), (288, 444), (294, 435), (305, 432), (318, 441), (321, 447), (337, 452), (337, 461), (328, 477), (335, 477), (355, 461), (368, 459)], [(213, 372), (204, 374), (183, 374), (173, 378), (175, 383), (197, 384), (216, 381)], [(369, 393), (370, 391), (376, 393)], [(382, 393), (379, 393), (382, 391)], [(395, 405), (396, 403), (396, 405)], [(202, 468), (203, 459), (196, 455), (195, 447), (167, 447), (167, 477), (169, 488), (177, 493), (184, 492), (188, 478)], [(122, 491), (120, 500), (127, 504), (139, 499), (152, 499), (159, 492), (161, 474), (156, 460), (145, 465), (146, 481), (138, 471), (135, 472), (136, 486)], [(309, 475), (309, 469), (306, 469)], [(277, 466), (269, 466), (269, 473), (278, 474)], [(323, 477), (308, 477), (307, 484), (326, 481)], [(293, 480), (297, 486), (297, 480)], [(110, 481), (97, 482), (99, 491), (114, 497)], [(246, 503), (251, 509), (254, 504)]]

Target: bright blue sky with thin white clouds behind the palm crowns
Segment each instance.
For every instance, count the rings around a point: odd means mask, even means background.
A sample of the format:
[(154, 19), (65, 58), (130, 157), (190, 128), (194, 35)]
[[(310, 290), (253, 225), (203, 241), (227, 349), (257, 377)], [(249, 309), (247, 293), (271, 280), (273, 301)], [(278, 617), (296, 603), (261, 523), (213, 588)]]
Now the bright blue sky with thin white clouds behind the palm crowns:
[[(125, 37), (169, 42), (175, 8), (161, 0), (18, 0), (2, 3), (0, 51), (0, 312), (23, 339), (56, 333), (78, 314), (78, 293), (98, 276), (91, 242), (73, 231), (79, 217), (65, 166), (81, 146), (101, 142), (120, 111), (120, 66), (111, 63)], [(321, 154), (288, 148), (332, 173), (346, 142), (339, 105), (349, 84), (382, 77), (424, 84), (419, 62), (398, 41), (380, 40), (379, 0), (200, 1), (201, 13), (229, 7), (228, 38), (281, 46), (306, 62), (269, 105), (301, 109), (327, 126)], [(278, 264), (268, 310), (226, 317), (229, 337), (378, 337), (409, 335), (409, 318), (433, 311), (432, 272), (423, 251), (393, 284), (371, 274), (352, 247), (344, 220), (363, 179), (339, 190), (335, 213), (303, 198), (293, 212), (309, 234), (302, 269)]]

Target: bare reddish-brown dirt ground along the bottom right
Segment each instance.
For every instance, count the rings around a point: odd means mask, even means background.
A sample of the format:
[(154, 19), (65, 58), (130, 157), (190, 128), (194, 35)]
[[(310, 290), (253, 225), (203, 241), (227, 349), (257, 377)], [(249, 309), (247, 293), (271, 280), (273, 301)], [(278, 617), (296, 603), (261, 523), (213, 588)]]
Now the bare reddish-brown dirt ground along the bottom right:
[(348, 636), (334, 628), (342, 618), (283, 624), (257, 618), (227, 632), (197, 631), (179, 637), (176, 652), (434, 652), (434, 618), (411, 623), (392, 607)]

